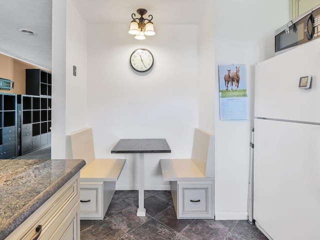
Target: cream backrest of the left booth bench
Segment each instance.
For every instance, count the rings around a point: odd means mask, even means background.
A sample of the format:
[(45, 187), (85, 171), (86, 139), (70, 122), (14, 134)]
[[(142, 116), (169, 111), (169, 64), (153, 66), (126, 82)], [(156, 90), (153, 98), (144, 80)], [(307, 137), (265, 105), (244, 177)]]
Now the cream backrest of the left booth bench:
[(92, 128), (82, 128), (67, 135), (70, 145), (70, 156), (73, 159), (84, 159), (86, 165), (94, 160)]

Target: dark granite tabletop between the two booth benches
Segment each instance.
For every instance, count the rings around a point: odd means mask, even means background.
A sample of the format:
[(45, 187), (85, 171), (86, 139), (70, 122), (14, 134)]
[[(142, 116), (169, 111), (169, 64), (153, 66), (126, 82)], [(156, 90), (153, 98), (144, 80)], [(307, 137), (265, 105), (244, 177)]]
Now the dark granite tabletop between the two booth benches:
[(171, 152), (165, 138), (120, 139), (111, 153), (157, 153)]

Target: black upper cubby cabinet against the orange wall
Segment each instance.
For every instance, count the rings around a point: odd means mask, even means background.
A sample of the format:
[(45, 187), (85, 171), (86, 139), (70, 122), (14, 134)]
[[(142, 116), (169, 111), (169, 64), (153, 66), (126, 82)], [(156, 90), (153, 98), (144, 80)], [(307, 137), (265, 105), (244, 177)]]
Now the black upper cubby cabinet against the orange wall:
[(25, 69), (25, 94), (51, 96), (51, 73), (41, 69)]

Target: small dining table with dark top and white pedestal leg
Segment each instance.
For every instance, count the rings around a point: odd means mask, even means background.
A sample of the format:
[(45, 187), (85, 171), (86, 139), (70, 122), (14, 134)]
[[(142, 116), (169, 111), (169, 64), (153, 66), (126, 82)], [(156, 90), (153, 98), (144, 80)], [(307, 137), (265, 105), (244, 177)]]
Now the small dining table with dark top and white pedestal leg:
[(138, 209), (137, 216), (145, 216), (144, 208), (144, 153), (169, 153), (171, 149), (165, 138), (120, 139), (111, 153), (138, 154)]

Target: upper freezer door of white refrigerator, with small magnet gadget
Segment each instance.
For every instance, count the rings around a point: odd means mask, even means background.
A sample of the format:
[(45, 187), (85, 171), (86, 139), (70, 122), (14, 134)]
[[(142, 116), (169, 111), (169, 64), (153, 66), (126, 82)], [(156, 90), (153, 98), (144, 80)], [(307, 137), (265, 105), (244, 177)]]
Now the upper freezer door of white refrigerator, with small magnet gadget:
[[(320, 38), (255, 66), (254, 116), (320, 122)], [(311, 75), (311, 88), (298, 87)]]

